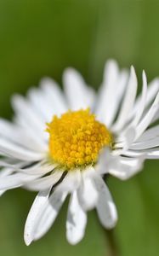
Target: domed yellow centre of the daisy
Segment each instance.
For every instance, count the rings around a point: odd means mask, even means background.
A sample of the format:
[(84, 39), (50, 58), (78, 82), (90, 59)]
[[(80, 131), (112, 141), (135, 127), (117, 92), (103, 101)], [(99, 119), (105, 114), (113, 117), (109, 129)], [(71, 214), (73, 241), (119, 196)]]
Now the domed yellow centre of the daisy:
[(110, 131), (89, 109), (54, 116), (47, 126), (49, 156), (66, 169), (94, 165), (99, 150), (112, 143)]

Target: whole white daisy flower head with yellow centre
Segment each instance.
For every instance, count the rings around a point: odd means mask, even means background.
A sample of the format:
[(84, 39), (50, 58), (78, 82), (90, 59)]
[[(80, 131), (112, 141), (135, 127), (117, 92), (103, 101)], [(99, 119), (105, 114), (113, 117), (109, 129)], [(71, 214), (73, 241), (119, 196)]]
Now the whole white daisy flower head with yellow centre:
[(99, 93), (77, 71), (63, 76), (64, 93), (52, 79), (43, 79), (26, 98), (12, 98), (14, 121), (0, 119), (0, 195), (23, 187), (38, 191), (26, 219), (25, 241), (41, 238), (54, 224), (70, 195), (66, 237), (82, 240), (87, 212), (93, 208), (107, 229), (115, 226), (116, 206), (103, 179), (127, 179), (145, 159), (159, 158), (159, 79), (137, 96), (133, 67), (120, 71), (105, 64)]

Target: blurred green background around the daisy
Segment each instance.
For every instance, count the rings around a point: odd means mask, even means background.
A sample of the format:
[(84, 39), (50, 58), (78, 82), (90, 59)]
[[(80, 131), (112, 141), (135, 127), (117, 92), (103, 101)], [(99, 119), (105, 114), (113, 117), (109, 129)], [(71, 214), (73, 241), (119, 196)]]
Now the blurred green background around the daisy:
[[(25, 93), (43, 76), (61, 83), (68, 66), (98, 88), (110, 57), (121, 67), (133, 64), (139, 81), (143, 68), (149, 81), (159, 75), (158, 1), (0, 0), (0, 115), (12, 116), (14, 92)], [(67, 203), (48, 234), (26, 247), (23, 229), (35, 194), (7, 192), (0, 199), (0, 255), (158, 256), (157, 166), (158, 160), (147, 161), (145, 171), (127, 182), (111, 177), (116, 229), (105, 233), (89, 212), (86, 236), (75, 247), (65, 241)]]

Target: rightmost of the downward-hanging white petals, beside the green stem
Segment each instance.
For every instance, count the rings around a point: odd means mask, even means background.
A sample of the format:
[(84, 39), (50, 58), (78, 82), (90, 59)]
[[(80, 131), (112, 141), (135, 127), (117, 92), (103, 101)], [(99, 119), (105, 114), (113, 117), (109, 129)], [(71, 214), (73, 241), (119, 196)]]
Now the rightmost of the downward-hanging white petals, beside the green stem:
[(102, 177), (97, 174), (94, 178), (94, 183), (96, 189), (99, 191), (99, 200), (97, 201), (96, 209), (100, 223), (106, 229), (112, 229), (117, 221), (116, 206)]

